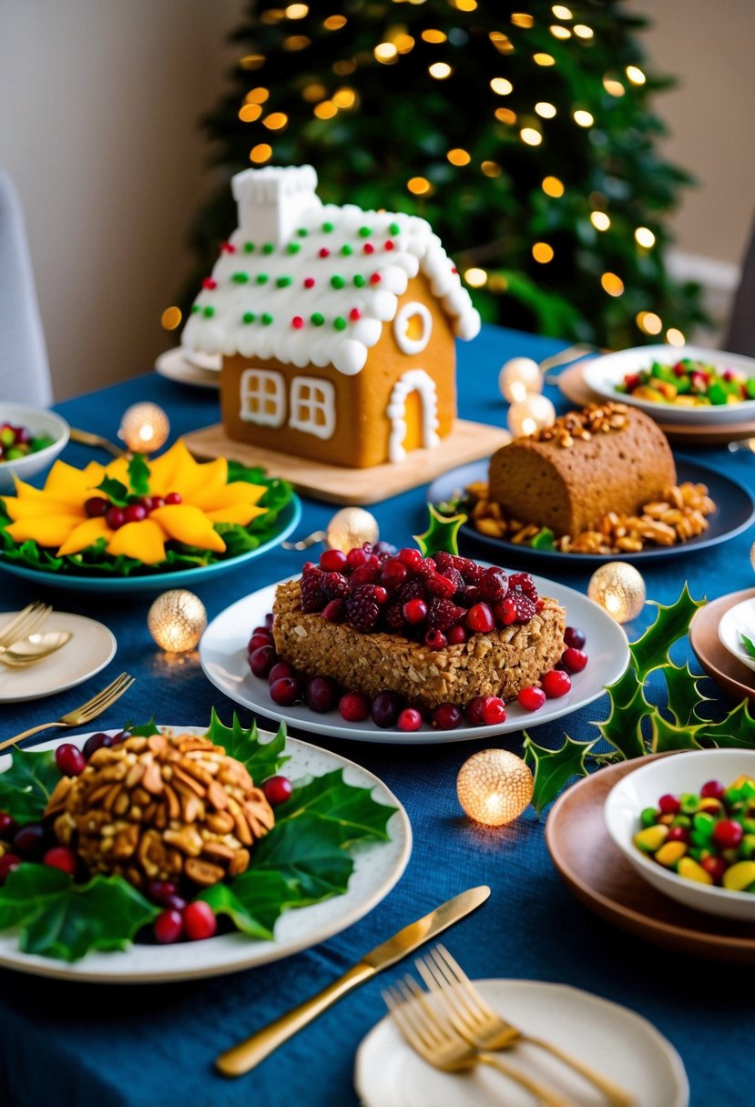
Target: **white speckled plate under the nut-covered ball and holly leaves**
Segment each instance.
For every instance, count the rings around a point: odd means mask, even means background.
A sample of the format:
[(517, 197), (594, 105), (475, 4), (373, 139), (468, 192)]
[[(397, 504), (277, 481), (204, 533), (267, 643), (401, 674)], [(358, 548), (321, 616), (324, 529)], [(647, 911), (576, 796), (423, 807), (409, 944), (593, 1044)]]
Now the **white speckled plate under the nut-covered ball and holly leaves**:
[[(206, 727), (161, 727), (177, 734), (205, 734)], [(94, 732), (93, 732), (94, 733)], [(100, 732), (97, 732), (100, 733)], [(106, 731), (116, 734), (116, 731)], [(271, 738), (268, 731), (259, 731), (262, 738)], [(40, 743), (35, 749), (53, 749), (61, 742), (83, 746), (89, 734), (70, 737), (68, 734), (52, 742)], [(347, 927), (358, 922), (384, 899), (396, 883), (412, 852), (412, 827), (406, 811), (383, 782), (361, 765), (320, 749), (308, 742), (287, 738), (286, 753), (290, 754), (282, 772), (292, 780), (306, 776), (323, 776), (342, 768), (347, 784), (370, 788), (372, 798), (380, 804), (395, 807), (387, 821), (390, 841), (368, 842), (354, 849), (354, 870), (348, 891), (322, 903), (285, 911), (275, 928), (271, 942), (257, 941), (235, 931), (201, 942), (177, 942), (175, 945), (139, 945), (112, 953), (87, 953), (81, 961), (68, 964), (35, 953), (19, 950), (15, 931), (0, 934), (0, 966), (33, 973), (37, 976), (55, 976), (63, 980), (91, 981), (108, 984), (163, 984), (173, 980), (192, 980), (201, 976), (220, 976), (241, 969), (279, 961), (299, 953), (311, 945), (327, 941)], [(0, 756), (0, 773), (10, 766), (10, 756)]]

